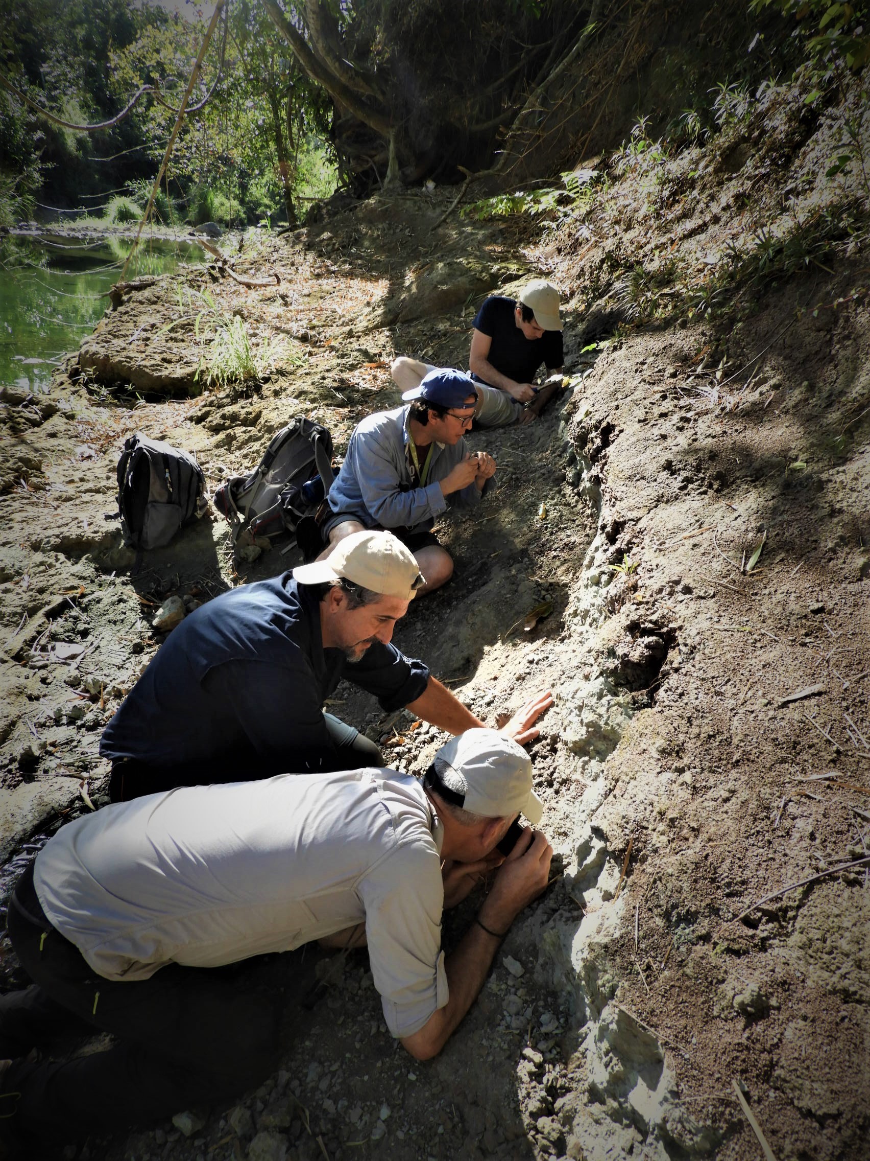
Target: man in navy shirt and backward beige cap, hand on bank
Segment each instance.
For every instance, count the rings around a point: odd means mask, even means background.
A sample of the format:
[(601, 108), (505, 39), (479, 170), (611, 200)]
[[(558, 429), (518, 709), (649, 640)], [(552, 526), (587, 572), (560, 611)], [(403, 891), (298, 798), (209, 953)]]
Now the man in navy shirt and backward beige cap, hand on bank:
[[(327, 561), (242, 585), (186, 618), (109, 721), (100, 753), (114, 802), (175, 786), (382, 765), (377, 747), (322, 712), (342, 677), (385, 712), (408, 706), (451, 734), (481, 722), (390, 643), (422, 583), (386, 532), (346, 538)], [(506, 727), (529, 741), (549, 695)]]

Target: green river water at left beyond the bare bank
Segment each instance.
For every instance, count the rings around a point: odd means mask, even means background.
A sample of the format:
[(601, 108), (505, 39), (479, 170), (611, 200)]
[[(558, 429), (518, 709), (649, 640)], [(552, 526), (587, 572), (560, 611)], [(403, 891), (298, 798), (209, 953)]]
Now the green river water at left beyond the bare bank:
[[(75, 351), (109, 307), (130, 243), (119, 238), (14, 239), (0, 251), (0, 385), (45, 391), (64, 355)], [(180, 262), (198, 262), (203, 251), (188, 243), (148, 239), (125, 279), (171, 274)]]

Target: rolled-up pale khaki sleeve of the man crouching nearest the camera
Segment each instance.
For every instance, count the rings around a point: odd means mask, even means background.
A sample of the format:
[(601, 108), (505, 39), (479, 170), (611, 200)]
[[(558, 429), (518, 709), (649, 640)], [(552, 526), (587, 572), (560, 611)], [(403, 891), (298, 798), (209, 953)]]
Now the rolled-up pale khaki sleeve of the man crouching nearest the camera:
[(384, 1019), (401, 1038), (419, 1032), (449, 998), (441, 914), (441, 860), (420, 844), (399, 848), (360, 884), (365, 936)]

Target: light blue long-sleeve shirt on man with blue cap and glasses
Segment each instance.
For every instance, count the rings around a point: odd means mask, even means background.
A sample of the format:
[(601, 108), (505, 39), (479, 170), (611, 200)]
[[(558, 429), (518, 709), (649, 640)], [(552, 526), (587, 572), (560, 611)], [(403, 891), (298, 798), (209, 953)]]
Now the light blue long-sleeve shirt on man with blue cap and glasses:
[[(471, 509), (479, 503), (480, 490), (473, 481), (447, 499), (438, 483), (467, 455), (464, 439), (452, 447), (433, 444), (426, 486), (413, 486), (408, 464), (409, 411), (409, 406), (378, 411), (357, 424), (341, 471), (329, 489), (329, 507), (336, 515), (353, 517), (367, 528), (425, 532), (448, 504)], [(420, 456), (421, 468), (426, 454)]]

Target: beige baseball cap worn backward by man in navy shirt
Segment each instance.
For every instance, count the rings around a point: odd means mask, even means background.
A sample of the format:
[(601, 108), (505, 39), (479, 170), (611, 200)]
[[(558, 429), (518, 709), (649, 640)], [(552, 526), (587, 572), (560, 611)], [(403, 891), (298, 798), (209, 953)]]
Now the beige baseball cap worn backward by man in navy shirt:
[(384, 597), (411, 600), (423, 580), (409, 548), (391, 532), (355, 532), (340, 540), (325, 561), (293, 569), (299, 584), (350, 580)]

